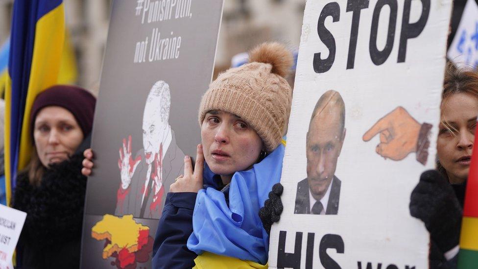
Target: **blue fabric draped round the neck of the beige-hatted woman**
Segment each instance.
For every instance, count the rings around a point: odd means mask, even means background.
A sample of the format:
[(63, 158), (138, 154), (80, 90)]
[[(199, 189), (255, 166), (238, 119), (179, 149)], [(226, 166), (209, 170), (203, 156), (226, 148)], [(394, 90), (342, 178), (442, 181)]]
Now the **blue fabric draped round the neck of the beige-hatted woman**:
[[(233, 175), (229, 206), (224, 194), (215, 188), (198, 192), (192, 217), (193, 232), (188, 240), (191, 251), (261, 265), (267, 263), (269, 236), (263, 229), (259, 209), (264, 206), (272, 186), (281, 179), (284, 148), (280, 144), (252, 169)], [(211, 183), (212, 175), (205, 173), (204, 180), (206, 184)]]

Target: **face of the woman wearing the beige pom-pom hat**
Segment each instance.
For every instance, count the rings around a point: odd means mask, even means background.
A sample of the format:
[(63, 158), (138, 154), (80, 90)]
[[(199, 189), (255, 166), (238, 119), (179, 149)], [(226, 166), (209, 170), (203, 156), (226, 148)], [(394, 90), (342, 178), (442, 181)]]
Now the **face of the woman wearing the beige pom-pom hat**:
[(206, 163), (221, 176), (250, 169), (263, 148), (261, 138), (249, 124), (221, 110), (206, 113), (201, 139)]

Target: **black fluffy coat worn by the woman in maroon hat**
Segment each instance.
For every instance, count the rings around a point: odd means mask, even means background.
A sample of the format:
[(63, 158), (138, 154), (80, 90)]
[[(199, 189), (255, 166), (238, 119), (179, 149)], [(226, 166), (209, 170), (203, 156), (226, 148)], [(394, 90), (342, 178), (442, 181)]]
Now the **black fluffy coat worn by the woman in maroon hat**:
[(86, 177), (81, 153), (48, 171), (38, 187), (17, 175), (12, 207), (27, 213), (17, 245), (17, 268), (79, 268)]

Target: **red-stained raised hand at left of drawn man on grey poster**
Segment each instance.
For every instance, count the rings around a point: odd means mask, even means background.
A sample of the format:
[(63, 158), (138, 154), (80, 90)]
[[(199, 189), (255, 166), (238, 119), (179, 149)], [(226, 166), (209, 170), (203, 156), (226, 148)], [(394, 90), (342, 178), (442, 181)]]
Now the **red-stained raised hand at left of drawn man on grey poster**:
[(141, 162), (141, 156), (133, 160), (131, 156), (131, 136), (128, 136), (128, 146), (126, 147), (126, 139), (123, 139), (123, 147), (119, 148), (118, 168), (121, 175), (121, 188), (126, 190), (131, 183), (136, 167)]

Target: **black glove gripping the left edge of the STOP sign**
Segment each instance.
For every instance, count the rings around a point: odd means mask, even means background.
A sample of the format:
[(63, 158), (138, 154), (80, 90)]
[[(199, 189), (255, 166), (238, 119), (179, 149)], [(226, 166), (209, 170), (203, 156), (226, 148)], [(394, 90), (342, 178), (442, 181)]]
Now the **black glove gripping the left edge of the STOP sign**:
[(259, 218), (261, 218), (262, 225), (267, 234), (270, 234), (272, 223), (279, 221), (281, 218), (282, 210), (284, 209), (281, 201), (283, 191), (284, 187), (281, 183), (272, 186), (272, 191), (269, 192), (269, 199), (265, 200), (264, 206), (259, 210)]

